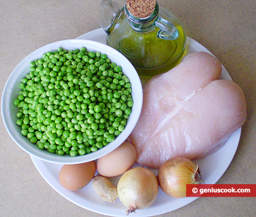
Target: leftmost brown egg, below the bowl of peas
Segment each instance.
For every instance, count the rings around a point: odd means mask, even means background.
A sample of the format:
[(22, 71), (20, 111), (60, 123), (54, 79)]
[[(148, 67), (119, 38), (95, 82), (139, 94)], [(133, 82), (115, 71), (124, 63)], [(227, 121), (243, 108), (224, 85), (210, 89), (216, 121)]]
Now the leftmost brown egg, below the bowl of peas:
[(96, 172), (95, 161), (82, 164), (65, 164), (60, 169), (60, 184), (68, 190), (84, 188), (93, 178)]

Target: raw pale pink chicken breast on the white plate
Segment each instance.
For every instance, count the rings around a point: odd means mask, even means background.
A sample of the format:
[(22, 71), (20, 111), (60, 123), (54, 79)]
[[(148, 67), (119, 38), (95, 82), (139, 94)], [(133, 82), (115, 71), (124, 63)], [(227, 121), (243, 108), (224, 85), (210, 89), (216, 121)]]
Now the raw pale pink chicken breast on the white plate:
[(175, 156), (201, 158), (244, 124), (243, 91), (220, 75), (218, 59), (196, 52), (146, 84), (141, 117), (129, 137), (139, 164), (159, 168)]

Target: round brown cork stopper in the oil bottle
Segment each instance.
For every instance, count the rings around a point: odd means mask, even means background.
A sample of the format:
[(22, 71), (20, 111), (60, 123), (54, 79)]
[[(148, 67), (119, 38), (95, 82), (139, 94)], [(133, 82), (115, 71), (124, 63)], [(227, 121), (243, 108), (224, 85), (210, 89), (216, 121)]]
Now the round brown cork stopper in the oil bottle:
[(156, 0), (127, 0), (127, 10), (137, 18), (146, 18), (155, 10)]

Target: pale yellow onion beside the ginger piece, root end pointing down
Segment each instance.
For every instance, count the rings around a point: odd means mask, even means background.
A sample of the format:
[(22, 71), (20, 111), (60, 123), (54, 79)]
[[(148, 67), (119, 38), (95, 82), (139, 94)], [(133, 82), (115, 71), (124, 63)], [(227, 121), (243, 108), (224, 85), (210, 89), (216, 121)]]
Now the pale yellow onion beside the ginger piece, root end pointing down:
[(136, 209), (146, 209), (158, 196), (158, 180), (149, 169), (135, 167), (126, 171), (117, 184), (117, 194), (127, 214)]

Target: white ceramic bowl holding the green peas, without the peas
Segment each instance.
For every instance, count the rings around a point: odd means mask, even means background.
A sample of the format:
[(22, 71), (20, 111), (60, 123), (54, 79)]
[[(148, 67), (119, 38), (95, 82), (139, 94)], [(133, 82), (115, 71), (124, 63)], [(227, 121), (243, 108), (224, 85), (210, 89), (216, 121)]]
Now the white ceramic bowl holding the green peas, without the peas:
[[(115, 140), (105, 147), (97, 150), (96, 152), (91, 152), (90, 154), (82, 155), (82, 156), (69, 156), (69, 155), (57, 155), (51, 154), (47, 150), (40, 150), (35, 144), (32, 144), (26, 137), (20, 134), (20, 126), (16, 125), (16, 112), (18, 108), (13, 104), (14, 99), (18, 96), (19, 83), (22, 78), (29, 72), (30, 66), (29, 63), (35, 59), (41, 58), (43, 53), (48, 51), (56, 50), (58, 47), (62, 47), (67, 50), (74, 50), (76, 48), (81, 48), (85, 46), (87, 50), (93, 52), (101, 52), (102, 54), (107, 54), (112, 62), (117, 63), (117, 65), (122, 66), (122, 71), (127, 77), (130, 79), (132, 85), (132, 97), (134, 101), (134, 105), (132, 108), (132, 113), (130, 114), (129, 120), (127, 121), (127, 125), (125, 130), (122, 131), (121, 134), (118, 135)], [(137, 71), (134, 69), (133, 65), (129, 62), (129, 60), (119, 53), (117, 50), (111, 48), (108, 45), (102, 44), (96, 41), (90, 40), (81, 40), (81, 39), (72, 39), (72, 40), (63, 40), (53, 42), (51, 44), (45, 45), (42, 48), (39, 48), (29, 54), (26, 58), (24, 58), (13, 70), (10, 74), (7, 82), (5, 84), (5, 88), (2, 94), (2, 118), (5, 124), (6, 130), (8, 131), (10, 137), (14, 140), (16, 144), (28, 154), (35, 156), (44, 161), (48, 161), (51, 163), (59, 163), (59, 164), (77, 164), (84, 163), (91, 160), (96, 160), (101, 156), (108, 154), (117, 148), (120, 144), (122, 144), (127, 137), (129, 137), (131, 131), (134, 129), (137, 124), (138, 118), (141, 114), (142, 109), (142, 84)]]

